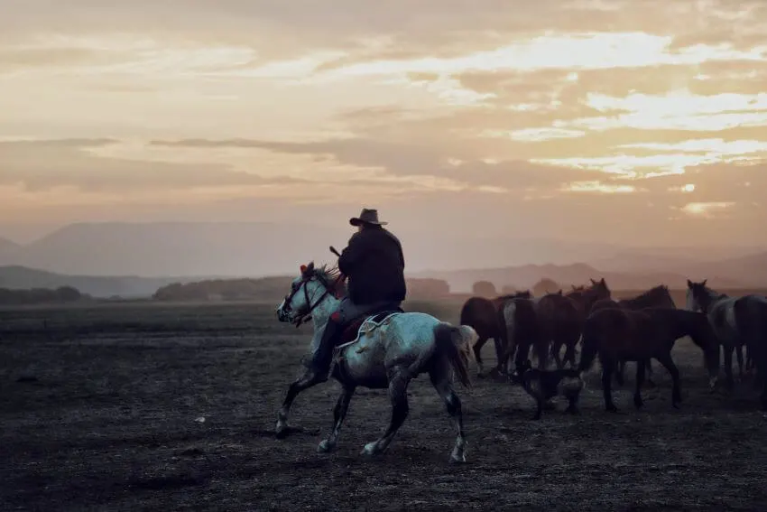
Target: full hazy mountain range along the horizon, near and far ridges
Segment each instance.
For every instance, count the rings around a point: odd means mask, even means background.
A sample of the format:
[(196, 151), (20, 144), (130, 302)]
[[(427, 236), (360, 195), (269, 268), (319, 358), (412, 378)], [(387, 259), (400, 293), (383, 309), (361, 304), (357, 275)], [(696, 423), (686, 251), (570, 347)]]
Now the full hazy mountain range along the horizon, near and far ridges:
[[(349, 226), (267, 222), (79, 223), (27, 244), (0, 238), (0, 286), (69, 284), (95, 296), (145, 296), (172, 282), (293, 275), (300, 264), (333, 263)], [(406, 274), (445, 279), (457, 293), (478, 280), (530, 287), (542, 277), (614, 289), (680, 288), (709, 279), (737, 288), (767, 285), (763, 247), (657, 247), (551, 239), (461, 236), (404, 230)], [(531, 265), (531, 262), (538, 262)]]

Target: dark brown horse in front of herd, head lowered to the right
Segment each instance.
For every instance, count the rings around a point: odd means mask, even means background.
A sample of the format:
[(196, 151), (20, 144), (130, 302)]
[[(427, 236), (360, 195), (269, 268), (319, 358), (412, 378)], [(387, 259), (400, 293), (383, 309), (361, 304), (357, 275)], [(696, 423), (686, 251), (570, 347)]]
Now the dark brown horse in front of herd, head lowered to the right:
[(588, 316), (583, 330), (583, 351), (578, 371), (584, 372), (594, 365), (599, 356), (602, 363), (602, 390), (605, 409), (617, 412), (612, 395), (612, 374), (621, 360), (636, 361), (636, 384), (633, 403), (642, 407), (640, 388), (644, 380), (644, 364), (656, 358), (671, 375), (673, 388), (671, 404), (679, 407), (679, 369), (671, 358), (674, 343), (689, 336), (706, 355), (709, 385), (716, 385), (719, 372), (719, 340), (708, 323), (706, 315), (698, 312), (669, 308), (645, 308), (633, 311), (624, 308), (605, 308)]

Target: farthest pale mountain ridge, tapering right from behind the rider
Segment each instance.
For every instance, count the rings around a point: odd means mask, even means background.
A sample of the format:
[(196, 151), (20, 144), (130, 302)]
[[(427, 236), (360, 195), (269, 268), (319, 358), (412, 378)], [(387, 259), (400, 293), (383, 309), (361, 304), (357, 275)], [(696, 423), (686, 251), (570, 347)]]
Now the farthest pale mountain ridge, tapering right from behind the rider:
[[(424, 227), (395, 229), (409, 272), (523, 265), (563, 265), (610, 254), (608, 244), (549, 239), (460, 237)], [(314, 259), (334, 263), (328, 251), (346, 246), (346, 222), (333, 228), (310, 223), (157, 222), (79, 223), (53, 231), (7, 254), (0, 265), (23, 265), (69, 275), (292, 275)]]

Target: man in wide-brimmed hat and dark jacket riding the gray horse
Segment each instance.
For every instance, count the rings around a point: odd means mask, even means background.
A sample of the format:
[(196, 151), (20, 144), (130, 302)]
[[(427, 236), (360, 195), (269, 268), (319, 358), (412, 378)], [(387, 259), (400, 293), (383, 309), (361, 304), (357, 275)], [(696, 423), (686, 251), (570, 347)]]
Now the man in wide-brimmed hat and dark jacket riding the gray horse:
[(310, 368), (320, 382), (328, 380), (333, 349), (352, 321), (376, 312), (402, 311), (405, 300), (405, 260), (397, 237), (378, 220), (378, 210), (363, 209), (349, 219), (357, 232), (338, 257), (338, 270), (347, 277), (347, 296), (328, 320)]

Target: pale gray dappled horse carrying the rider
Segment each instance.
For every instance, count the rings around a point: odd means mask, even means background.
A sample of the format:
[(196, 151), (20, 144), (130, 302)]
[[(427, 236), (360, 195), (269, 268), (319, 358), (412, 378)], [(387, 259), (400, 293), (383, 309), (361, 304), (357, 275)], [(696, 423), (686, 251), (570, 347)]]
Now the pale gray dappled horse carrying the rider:
[[(337, 289), (338, 275), (314, 263), (301, 265), (301, 273), (291, 283), (291, 291), (277, 308), (280, 321), (300, 324), (311, 317), (314, 336), (311, 350), (319, 348), (322, 331), (330, 314), (340, 303)], [(365, 444), (363, 454), (384, 452), (408, 415), (407, 387), (413, 377), (428, 373), (431, 384), (445, 402), (457, 431), (451, 460), (466, 461), (466, 439), (463, 427), (461, 401), (453, 390), (451, 369), (461, 384), (471, 386), (468, 361), (476, 331), (469, 326), (456, 327), (439, 321), (423, 312), (393, 312), (380, 323), (370, 315), (358, 327), (356, 337), (337, 348), (331, 377), (342, 386), (333, 413), (333, 428), (328, 438), (319, 443), (319, 451), (336, 448), (341, 425), (347, 415), (349, 402), (357, 386), (387, 389), (392, 401), (392, 418), (384, 434), (376, 441)], [(298, 394), (323, 381), (310, 368), (296, 379), (288, 389), (277, 415), (276, 434), (284, 437), (289, 432), (288, 415)]]

